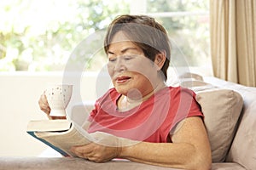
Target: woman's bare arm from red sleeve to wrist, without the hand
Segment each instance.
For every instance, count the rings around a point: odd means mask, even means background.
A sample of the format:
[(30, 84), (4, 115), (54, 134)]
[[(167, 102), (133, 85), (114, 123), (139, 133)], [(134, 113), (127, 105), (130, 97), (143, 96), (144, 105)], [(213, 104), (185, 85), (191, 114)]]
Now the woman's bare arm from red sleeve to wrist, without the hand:
[(142, 142), (121, 150), (120, 157), (164, 167), (204, 170), (212, 164), (210, 144), (201, 117), (183, 121), (172, 136), (173, 143)]

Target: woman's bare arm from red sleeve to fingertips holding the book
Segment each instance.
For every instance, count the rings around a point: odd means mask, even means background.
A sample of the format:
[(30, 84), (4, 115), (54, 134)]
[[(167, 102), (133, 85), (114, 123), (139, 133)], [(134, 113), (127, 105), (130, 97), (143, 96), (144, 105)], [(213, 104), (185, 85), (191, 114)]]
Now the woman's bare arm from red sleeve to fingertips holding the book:
[(119, 157), (163, 167), (207, 170), (212, 164), (210, 144), (201, 117), (183, 121), (172, 135), (173, 143), (140, 142), (122, 148), (90, 143), (72, 151), (90, 161), (103, 162)]

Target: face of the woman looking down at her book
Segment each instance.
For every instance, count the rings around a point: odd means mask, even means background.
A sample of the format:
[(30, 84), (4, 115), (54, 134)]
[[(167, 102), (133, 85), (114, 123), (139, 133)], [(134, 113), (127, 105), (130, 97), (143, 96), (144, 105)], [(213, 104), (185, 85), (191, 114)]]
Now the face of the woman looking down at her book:
[(141, 98), (154, 90), (157, 67), (143, 50), (119, 31), (108, 49), (108, 72), (113, 86), (129, 98)]

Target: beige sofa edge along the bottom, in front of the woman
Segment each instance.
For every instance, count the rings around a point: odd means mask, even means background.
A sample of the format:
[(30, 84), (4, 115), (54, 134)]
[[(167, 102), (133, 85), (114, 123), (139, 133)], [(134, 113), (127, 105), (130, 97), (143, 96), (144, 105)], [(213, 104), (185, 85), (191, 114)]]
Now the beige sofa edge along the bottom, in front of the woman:
[(0, 169), (18, 170), (180, 170), (135, 161), (113, 160), (104, 163), (78, 157), (1, 157)]

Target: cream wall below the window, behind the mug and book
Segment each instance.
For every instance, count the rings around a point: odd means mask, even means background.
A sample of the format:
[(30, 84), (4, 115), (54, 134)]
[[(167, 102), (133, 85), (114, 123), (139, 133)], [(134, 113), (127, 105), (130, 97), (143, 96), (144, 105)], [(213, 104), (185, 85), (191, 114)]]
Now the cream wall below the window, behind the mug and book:
[[(38, 156), (46, 149), (44, 144), (26, 133), (27, 122), (31, 119), (46, 119), (38, 107), (38, 99), (49, 82), (70, 82), (74, 84), (73, 96), (67, 107), (82, 100), (95, 100), (97, 73), (87, 73), (79, 77), (72, 73), (64, 76), (61, 72), (51, 73), (0, 73), (0, 156)], [(63, 80), (65, 77), (65, 80)], [(109, 80), (105, 75), (100, 82), (109, 88)], [(81, 90), (80, 90), (81, 87)], [(83, 96), (83, 97), (81, 97)]]

